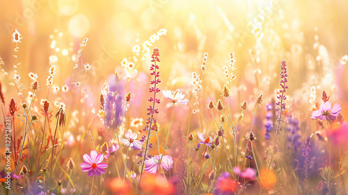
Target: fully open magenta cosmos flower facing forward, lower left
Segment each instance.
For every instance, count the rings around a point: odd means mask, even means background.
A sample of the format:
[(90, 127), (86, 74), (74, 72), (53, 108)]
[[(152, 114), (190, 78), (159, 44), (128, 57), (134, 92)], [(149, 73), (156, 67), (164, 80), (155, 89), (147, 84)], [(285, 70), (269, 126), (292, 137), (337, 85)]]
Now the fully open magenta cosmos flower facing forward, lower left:
[(88, 171), (88, 176), (100, 176), (101, 173), (106, 173), (105, 168), (108, 167), (108, 164), (102, 162), (104, 159), (102, 153), (97, 155), (97, 151), (92, 150), (90, 151), (90, 155), (84, 154), (83, 158), (85, 162), (80, 164), (81, 171)]

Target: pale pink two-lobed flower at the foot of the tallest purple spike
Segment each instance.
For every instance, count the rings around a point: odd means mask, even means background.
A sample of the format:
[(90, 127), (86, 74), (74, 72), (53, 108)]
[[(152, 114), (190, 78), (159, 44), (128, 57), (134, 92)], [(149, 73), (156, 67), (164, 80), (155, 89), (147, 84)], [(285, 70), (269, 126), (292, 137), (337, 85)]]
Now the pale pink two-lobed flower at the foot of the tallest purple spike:
[[(155, 174), (159, 166), (159, 155), (150, 157), (145, 160), (145, 171), (150, 174)], [(161, 161), (162, 169), (169, 171), (173, 168), (173, 158), (169, 155), (164, 155)]]

